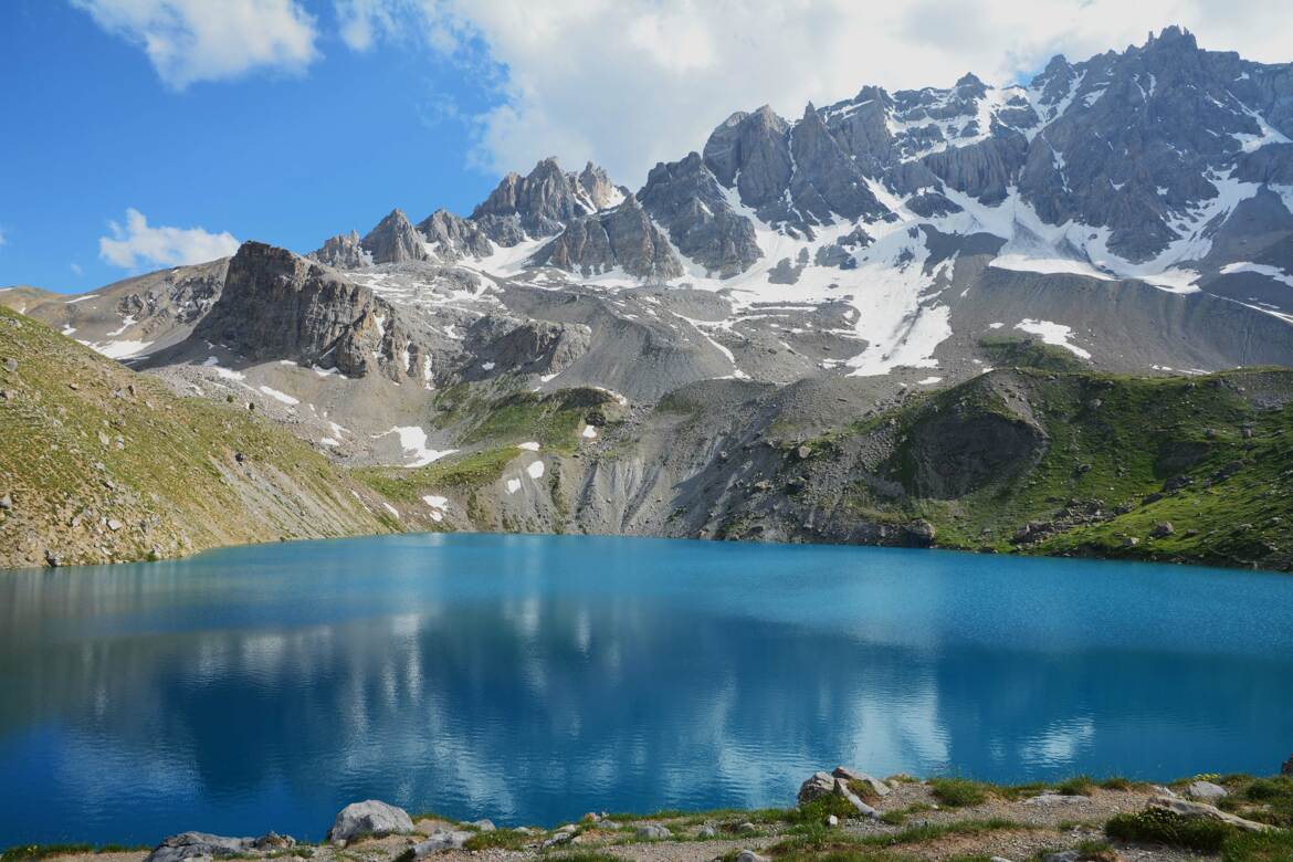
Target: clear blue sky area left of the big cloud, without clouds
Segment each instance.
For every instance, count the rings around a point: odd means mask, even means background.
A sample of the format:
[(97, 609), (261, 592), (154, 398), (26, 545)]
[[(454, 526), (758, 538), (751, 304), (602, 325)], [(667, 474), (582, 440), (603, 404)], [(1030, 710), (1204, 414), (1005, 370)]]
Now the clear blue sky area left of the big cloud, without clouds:
[[(322, 18), (330, 14), (321, 6)], [(150, 270), (100, 257), (127, 208), (306, 252), (393, 207), (469, 211), (497, 182), (434, 105), (489, 96), (424, 53), (322, 37), (308, 74), (168, 88), (144, 52), (56, 0), (0, 4), (0, 284), (83, 291)], [(72, 265), (81, 273), (74, 271)]]

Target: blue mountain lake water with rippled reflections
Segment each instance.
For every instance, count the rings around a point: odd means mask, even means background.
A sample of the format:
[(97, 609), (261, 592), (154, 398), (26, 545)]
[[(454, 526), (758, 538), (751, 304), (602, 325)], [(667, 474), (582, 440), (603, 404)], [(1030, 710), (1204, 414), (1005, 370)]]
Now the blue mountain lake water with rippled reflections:
[(1271, 773), (1293, 578), (384, 536), (0, 573), (0, 846), (789, 805), (820, 768)]

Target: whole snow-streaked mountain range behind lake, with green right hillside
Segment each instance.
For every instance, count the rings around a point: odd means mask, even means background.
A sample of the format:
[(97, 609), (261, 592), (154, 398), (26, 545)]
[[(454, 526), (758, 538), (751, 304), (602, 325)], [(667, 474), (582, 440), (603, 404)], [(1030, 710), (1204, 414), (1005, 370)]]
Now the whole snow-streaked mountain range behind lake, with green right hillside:
[(1236, 477), (1287, 494), (1293, 63), (1169, 27), (733, 107), (636, 190), (544, 159), (467, 216), (0, 302), (253, 405), (403, 529), (1289, 565)]

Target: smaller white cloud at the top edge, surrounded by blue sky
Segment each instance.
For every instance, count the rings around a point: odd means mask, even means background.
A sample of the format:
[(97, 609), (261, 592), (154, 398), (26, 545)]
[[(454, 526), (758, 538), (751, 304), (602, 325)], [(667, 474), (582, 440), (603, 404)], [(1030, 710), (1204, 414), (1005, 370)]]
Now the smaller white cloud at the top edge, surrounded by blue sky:
[(149, 56), (175, 89), (256, 68), (304, 71), (319, 53), (296, 0), (71, 0)]

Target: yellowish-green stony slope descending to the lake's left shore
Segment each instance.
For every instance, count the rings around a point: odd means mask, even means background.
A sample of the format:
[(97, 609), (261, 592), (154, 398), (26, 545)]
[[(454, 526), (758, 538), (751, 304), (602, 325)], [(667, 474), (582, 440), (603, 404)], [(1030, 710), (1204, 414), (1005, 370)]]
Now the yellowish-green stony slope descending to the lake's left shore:
[(396, 526), (372, 513), (381, 508), (371, 491), (287, 432), (178, 398), (8, 309), (0, 389), (0, 496), (13, 500), (0, 512), (0, 565), (43, 565), (47, 552), (62, 563), (141, 560)]

